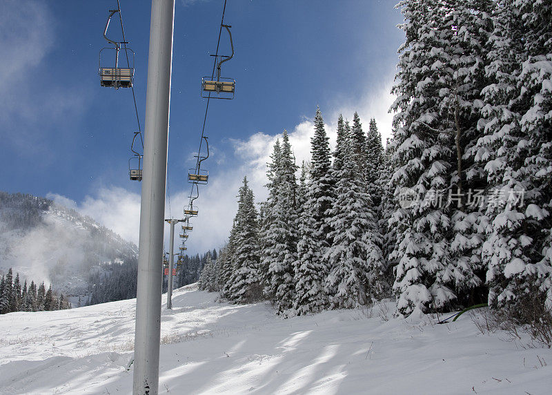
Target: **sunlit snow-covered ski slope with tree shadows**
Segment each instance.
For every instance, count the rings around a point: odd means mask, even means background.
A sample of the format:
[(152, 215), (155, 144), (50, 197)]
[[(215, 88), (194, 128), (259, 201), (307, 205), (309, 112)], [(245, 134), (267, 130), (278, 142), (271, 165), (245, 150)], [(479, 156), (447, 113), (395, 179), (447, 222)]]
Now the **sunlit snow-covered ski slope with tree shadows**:
[[(192, 285), (162, 310), (160, 394), (552, 393), (551, 349), (483, 335), (468, 314), (447, 325), (386, 321), (381, 307), (284, 320), (216, 298)], [(0, 316), (0, 394), (130, 394), (134, 319), (135, 300)]]

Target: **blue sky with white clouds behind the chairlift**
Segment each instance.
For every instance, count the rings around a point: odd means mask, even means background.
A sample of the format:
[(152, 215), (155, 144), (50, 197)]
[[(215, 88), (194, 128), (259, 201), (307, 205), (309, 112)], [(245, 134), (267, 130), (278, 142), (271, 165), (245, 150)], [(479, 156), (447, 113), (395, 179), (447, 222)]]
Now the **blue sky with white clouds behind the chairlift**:
[[(150, 1), (120, 2), (126, 39), (136, 52), (135, 93), (144, 126)], [(211, 182), (197, 200), (190, 251), (224, 240), (244, 175), (257, 198), (264, 198), (264, 165), (284, 128), (297, 159), (308, 159), (316, 106), (331, 136), (337, 115), (352, 119), (355, 110), (365, 125), (375, 117), (389, 135), (389, 89), (404, 41), (395, 2), (228, 0), (225, 23), (233, 26), (235, 57), (222, 75), (236, 79), (236, 95), (210, 103)], [(189, 194), (186, 175), (206, 105), (200, 81), (213, 67), (209, 55), (223, 3), (176, 2), (168, 151), (172, 216), (181, 213)], [(103, 26), (116, 6), (116, 0), (0, 3), (0, 189), (55, 198), (136, 241), (141, 184), (127, 174), (137, 129), (132, 93), (101, 88), (97, 76), (98, 52), (107, 45)], [(115, 37), (117, 22), (110, 26)], [(219, 52), (230, 52), (224, 32)]]

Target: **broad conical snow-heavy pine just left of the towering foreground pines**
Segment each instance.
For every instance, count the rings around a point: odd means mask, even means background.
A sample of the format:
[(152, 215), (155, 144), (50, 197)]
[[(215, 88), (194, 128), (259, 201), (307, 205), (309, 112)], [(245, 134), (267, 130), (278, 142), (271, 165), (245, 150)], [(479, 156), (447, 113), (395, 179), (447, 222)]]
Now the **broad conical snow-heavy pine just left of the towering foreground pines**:
[(346, 139), (342, 169), (335, 174), (336, 198), (330, 211), (333, 244), (324, 256), (331, 267), (326, 291), (333, 308), (366, 305), (384, 291), (381, 240), (358, 158), (362, 154), (355, 135)]

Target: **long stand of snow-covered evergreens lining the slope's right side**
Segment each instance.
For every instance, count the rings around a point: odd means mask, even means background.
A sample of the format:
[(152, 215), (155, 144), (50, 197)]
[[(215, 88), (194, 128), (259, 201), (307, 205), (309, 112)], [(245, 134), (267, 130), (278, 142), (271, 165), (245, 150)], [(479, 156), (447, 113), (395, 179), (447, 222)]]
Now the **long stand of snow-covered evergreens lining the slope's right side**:
[(480, 302), (550, 309), (552, 3), (397, 7), (406, 40), (386, 148), (355, 114), (352, 125), (339, 117), (331, 153), (317, 109), (299, 171), (284, 131), (268, 199), (257, 210), (244, 178), (202, 289), (284, 315), (387, 296), (402, 316)]

